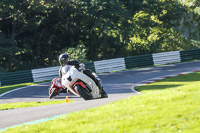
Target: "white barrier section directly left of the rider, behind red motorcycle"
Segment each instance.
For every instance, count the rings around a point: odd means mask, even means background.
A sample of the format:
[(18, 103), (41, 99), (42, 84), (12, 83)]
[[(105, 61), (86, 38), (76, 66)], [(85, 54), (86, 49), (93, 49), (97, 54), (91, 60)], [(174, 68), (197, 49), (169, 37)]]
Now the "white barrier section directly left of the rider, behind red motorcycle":
[(33, 69), (32, 70), (33, 82), (52, 80), (53, 78), (58, 77), (59, 69), (60, 66)]

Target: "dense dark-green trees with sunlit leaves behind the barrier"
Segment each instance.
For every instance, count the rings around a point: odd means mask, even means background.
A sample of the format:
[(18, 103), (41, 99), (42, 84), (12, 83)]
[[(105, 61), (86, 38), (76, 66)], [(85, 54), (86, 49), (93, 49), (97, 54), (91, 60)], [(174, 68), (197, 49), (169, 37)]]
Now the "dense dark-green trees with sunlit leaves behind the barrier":
[(197, 48), (194, 6), (176, 0), (1, 0), (0, 72), (55, 66), (65, 51), (94, 61)]

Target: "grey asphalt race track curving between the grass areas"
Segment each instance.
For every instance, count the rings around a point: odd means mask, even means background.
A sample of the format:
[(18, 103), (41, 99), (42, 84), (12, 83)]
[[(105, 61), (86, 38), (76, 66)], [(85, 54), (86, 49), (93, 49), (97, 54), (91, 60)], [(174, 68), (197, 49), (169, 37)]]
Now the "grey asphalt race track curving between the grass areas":
[[(56, 115), (67, 114), (82, 109), (88, 109), (107, 103), (117, 101), (137, 93), (131, 91), (133, 84), (154, 77), (182, 73), (200, 69), (200, 61), (170, 64), (151, 68), (141, 68), (114, 73), (101, 74), (103, 86), (109, 98), (84, 101), (82, 98), (73, 95), (61, 94), (55, 99), (65, 100), (69, 96), (74, 103), (47, 105), (40, 107), (28, 107), (0, 111), (0, 129), (16, 124), (40, 120)], [(47, 101), (48, 87), (50, 83), (29, 86), (21, 90), (8, 93), (0, 97), (0, 104), (11, 102)]]

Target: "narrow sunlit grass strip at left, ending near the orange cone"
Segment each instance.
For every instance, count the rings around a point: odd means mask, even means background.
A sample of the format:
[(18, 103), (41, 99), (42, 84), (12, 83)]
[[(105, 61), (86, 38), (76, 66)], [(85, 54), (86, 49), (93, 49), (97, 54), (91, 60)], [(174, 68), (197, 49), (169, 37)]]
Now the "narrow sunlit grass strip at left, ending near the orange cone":
[[(74, 102), (74, 101), (69, 100), (69, 102)], [(38, 101), (38, 102), (5, 103), (5, 104), (0, 104), (0, 110), (44, 106), (44, 105), (61, 104), (61, 103), (66, 103), (66, 102), (63, 99), (63, 100)]]

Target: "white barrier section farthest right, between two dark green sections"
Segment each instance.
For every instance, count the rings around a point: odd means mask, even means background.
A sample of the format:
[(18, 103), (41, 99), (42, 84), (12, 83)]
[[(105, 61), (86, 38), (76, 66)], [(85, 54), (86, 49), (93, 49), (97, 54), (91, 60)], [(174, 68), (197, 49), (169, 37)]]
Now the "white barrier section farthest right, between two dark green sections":
[(154, 53), (152, 56), (154, 65), (181, 62), (180, 51)]

